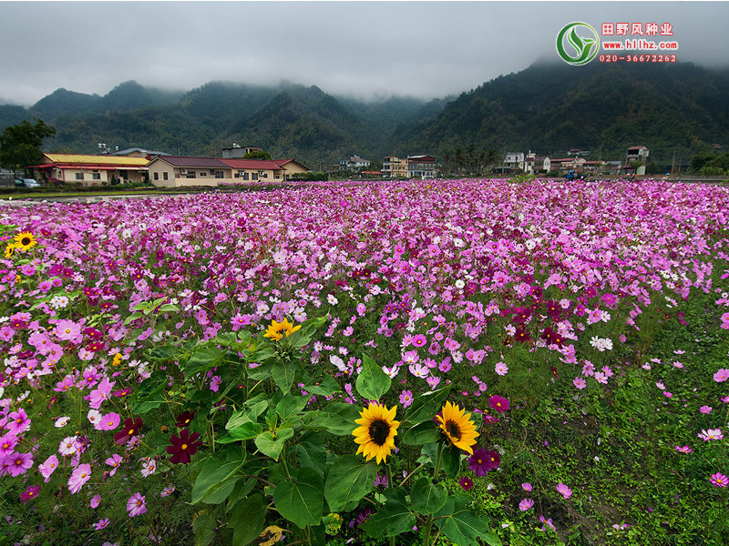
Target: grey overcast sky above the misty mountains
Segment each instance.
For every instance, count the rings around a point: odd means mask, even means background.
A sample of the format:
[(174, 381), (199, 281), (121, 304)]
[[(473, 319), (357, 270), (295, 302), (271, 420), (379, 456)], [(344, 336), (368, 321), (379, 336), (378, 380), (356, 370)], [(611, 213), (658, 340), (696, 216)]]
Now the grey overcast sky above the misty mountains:
[(105, 95), (132, 79), (183, 90), (288, 80), (429, 99), (539, 58), (562, 62), (557, 35), (576, 21), (598, 32), (669, 23), (679, 61), (729, 65), (727, 2), (0, 1), (0, 99), (28, 106), (58, 87)]

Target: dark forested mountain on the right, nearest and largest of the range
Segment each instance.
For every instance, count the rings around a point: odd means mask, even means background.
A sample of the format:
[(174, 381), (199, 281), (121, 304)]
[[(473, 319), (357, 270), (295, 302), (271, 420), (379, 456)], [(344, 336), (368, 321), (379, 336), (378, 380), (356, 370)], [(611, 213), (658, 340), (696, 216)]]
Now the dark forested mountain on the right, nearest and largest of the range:
[(471, 144), (499, 156), (531, 149), (560, 157), (579, 147), (595, 159), (624, 159), (627, 147), (643, 145), (670, 163), (674, 150), (727, 144), (727, 97), (726, 72), (693, 64), (539, 63), (462, 94), (394, 147), (436, 157)]

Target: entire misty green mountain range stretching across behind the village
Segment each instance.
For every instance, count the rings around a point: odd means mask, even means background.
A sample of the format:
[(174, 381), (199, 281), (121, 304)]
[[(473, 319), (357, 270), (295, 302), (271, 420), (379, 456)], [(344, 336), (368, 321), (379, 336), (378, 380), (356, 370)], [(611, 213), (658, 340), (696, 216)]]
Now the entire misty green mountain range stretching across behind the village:
[[(26, 109), (0, 106), (0, 129), (34, 116), (56, 127), (53, 151), (95, 153), (98, 143), (219, 156), (233, 142), (312, 168), (358, 155), (438, 159), (534, 150), (563, 157), (688, 159), (729, 144), (729, 71), (685, 63), (538, 62), (457, 97), (359, 101), (317, 86), (210, 82), (187, 93), (126, 82), (106, 96), (57, 89)], [(684, 163), (685, 164), (685, 163)]]

